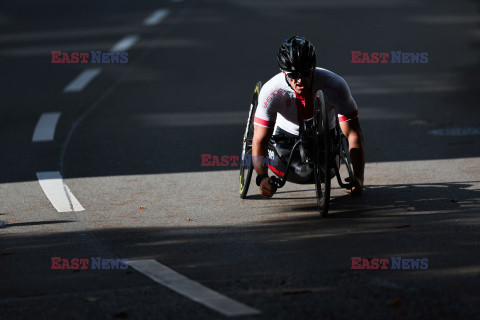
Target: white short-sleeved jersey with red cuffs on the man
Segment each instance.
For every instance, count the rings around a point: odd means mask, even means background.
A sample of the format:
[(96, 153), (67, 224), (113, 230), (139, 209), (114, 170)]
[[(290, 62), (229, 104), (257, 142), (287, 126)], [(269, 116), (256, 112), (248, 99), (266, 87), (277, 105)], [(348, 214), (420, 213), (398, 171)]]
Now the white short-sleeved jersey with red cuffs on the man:
[(339, 122), (358, 117), (358, 108), (347, 83), (339, 75), (322, 68), (315, 69), (312, 84), (313, 93), (301, 96), (288, 85), (281, 72), (262, 87), (258, 97), (254, 123), (281, 129), (298, 135), (300, 119), (313, 117), (314, 94), (323, 91), (329, 110), (330, 128), (335, 127), (335, 115)]

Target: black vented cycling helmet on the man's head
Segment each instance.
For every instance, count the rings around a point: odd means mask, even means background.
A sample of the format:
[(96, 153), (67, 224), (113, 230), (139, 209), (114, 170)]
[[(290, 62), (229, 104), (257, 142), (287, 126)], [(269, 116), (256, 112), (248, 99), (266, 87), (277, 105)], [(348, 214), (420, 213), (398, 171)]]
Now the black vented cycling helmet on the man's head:
[(293, 36), (283, 41), (278, 49), (277, 61), (286, 72), (301, 72), (315, 66), (315, 48), (305, 38)]

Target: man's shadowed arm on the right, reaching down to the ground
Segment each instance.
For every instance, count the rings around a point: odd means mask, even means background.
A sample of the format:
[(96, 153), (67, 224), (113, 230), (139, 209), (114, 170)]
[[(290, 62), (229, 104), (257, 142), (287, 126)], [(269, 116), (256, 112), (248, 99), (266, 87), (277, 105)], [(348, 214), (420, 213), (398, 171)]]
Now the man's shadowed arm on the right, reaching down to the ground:
[(350, 158), (352, 159), (355, 181), (351, 190), (352, 196), (360, 196), (363, 192), (363, 178), (365, 171), (365, 141), (358, 117), (340, 123), (343, 134), (348, 139)]

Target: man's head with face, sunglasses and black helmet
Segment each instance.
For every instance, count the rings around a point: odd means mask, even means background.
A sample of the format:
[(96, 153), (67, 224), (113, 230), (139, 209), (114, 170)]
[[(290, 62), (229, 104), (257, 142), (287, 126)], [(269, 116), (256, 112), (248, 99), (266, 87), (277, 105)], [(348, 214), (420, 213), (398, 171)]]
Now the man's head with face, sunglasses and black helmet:
[(310, 89), (316, 65), (315, 48), (310, 41), (298, 36), (283, 41), (278, 49), (277, 61), (295, 92), (303, 94)]

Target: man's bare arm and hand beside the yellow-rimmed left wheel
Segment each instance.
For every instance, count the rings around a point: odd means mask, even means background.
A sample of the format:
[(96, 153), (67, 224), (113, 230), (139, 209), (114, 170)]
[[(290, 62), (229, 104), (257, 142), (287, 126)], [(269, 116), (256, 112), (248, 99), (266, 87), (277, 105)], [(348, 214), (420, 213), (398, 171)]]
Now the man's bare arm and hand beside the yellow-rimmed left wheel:
[[(252, 141), (252, 160), (257, 175), (268, 174), (268, 165), (261, 159), (268, 156), (268, 141), (273, 134), (273, 128), (267, 128), (255, 124)], [(260, 194), (270, 198), (277, 191), (277, 188), (269, 183), (269, 178), (263, 178), (260, 183)]]

